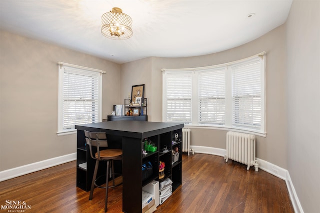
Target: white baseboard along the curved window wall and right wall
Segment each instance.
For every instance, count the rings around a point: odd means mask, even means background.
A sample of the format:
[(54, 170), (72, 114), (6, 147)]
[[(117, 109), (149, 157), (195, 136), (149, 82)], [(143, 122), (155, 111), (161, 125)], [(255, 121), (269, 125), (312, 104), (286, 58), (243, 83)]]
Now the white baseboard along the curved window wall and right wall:
[[(218, 149), (213, 147), (203, 147), (203, 146), (190, 146), (190, 149), (194, 151), (194, 153), (201, 153), (201, 154), (210, 154), (210, 155), (217, 155), (224, 157), (226, 150), (225, 149)], [(286, 188), (289, 192), (289, 197), (294, 209), (295, 213), (303, 213), (302, 207), (300, 205), (299, 199), (295, 193), (294, 186), (292, 184), (289, 172), (286, 169), (278, 167), (274, 164), (271, 164), (267, 161), (262, 159), (256, 158), (259, 164), (259, 169), (274, 175), (286, 183)]]

